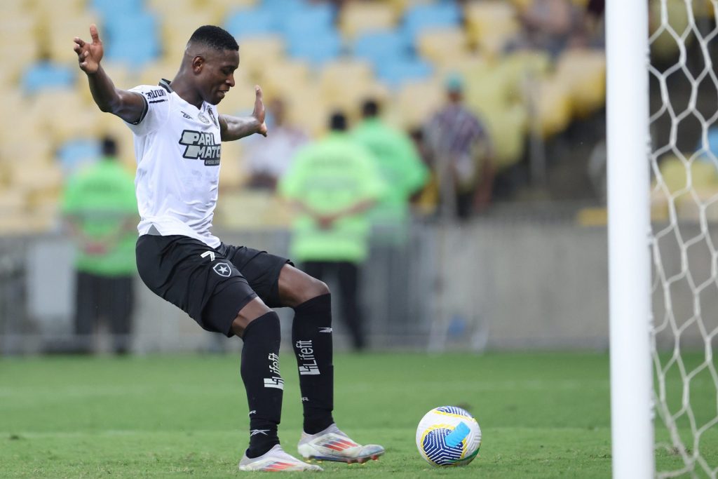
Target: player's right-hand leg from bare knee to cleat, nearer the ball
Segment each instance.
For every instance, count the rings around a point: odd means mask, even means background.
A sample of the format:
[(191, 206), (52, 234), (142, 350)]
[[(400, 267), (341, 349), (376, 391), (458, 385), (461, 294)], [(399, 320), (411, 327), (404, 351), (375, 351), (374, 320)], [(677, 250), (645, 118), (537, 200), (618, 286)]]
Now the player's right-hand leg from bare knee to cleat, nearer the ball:
[(359, 445), (334, 424), (332, 298), (318, 279), (289, 264), (279, 275), (279, 298), (294, 308), (292, 346), (299, 367), (304, 432), (297, 449), (305, 459), (365, 462), (384, 453), (378, 445)]

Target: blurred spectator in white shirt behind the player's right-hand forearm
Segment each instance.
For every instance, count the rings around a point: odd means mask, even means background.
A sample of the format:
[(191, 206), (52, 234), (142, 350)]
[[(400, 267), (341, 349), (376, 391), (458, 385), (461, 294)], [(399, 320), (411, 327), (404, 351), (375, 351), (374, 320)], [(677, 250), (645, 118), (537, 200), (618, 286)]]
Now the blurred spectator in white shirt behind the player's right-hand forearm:
[(289, 168), (297, 149), (307, 143), (304, 131), (286, 121), (286, 105), (279, 98), (267, 106), (267, 126), (271, 134), (261, 141), (247, 143), (247, 168), (250, 188), (274, 191), (279, 178)]

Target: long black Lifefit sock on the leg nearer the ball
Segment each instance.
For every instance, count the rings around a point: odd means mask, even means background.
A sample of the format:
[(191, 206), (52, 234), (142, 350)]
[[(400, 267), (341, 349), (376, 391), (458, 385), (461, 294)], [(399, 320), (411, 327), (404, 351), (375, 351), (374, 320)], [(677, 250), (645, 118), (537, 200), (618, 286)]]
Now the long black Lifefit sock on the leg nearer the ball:
[(292, 346), (299, 366), (304, 432), (316, 434), (334, 422), (331, 294), (322, 294), (294, 308)]

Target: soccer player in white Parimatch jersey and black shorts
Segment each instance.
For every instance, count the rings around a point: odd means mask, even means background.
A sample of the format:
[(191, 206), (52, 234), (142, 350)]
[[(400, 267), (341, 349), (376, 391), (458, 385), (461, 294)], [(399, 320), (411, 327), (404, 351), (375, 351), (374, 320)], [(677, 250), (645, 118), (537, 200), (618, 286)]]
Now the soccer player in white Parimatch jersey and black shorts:
[[(217, 202), (220, 141), (266, 136), (262, 91), (251, 116), (220, 115), (217, 104), (235, 85), (239, 47), (219, 27), (198, 28), (180, 70), (159, 85), (116, 88), (100, 62), (103, 45), (75, 37), (80, 70), (101, 111), (122, 118), (134, 134), (140, 222), (137, 269), (155, 294), (187, 312), (205, 330), (242, 338), (241, 376), (249, 406), (249, 447), (240, 470), (320, 470), (279, 445), (284, 381), (279, 373), (279, 317), (292, 307), (292, 343), (299, 366), (308, 459), (365, 462), (384, 449), (358, 445), (332, 418), (332, 312), (327, 285), (288, 259), (232, 246), (210, 233)], [(241, 212), (239, 214), (246, 214)], [(231, 408), (230, 408), (231, 410)]]

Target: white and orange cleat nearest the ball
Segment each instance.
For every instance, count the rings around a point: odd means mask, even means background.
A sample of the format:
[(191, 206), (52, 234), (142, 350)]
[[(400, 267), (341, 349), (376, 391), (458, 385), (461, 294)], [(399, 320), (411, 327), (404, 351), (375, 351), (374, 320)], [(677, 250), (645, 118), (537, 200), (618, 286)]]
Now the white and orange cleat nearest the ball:
[(347, 434), (341, 432), (336, 424), (332, 424), (317, 434), (302, 432), (297, 450), (304, 460), (337, 461), (349, 464), (377, 460), (384, 453), (384, 448), (379, 445), (357, 444)]

